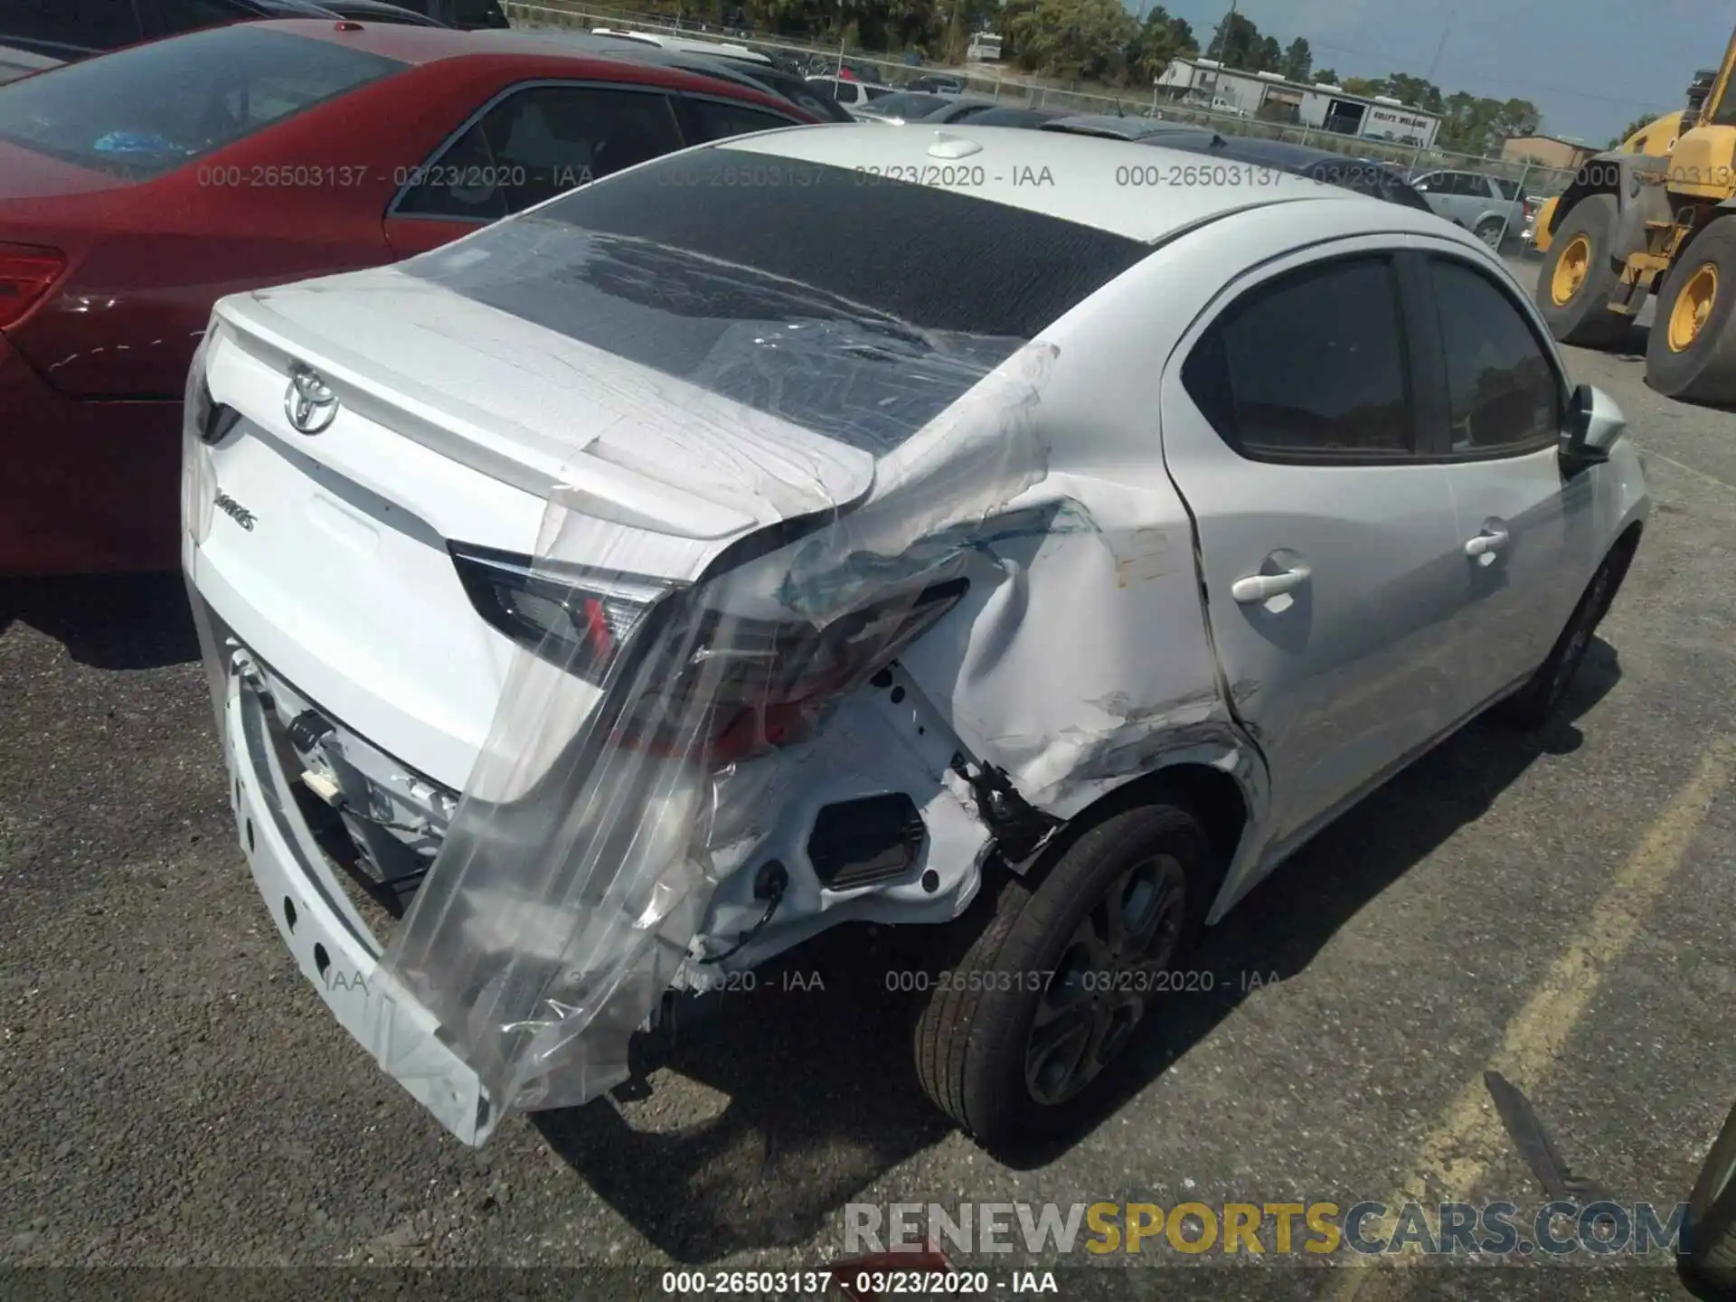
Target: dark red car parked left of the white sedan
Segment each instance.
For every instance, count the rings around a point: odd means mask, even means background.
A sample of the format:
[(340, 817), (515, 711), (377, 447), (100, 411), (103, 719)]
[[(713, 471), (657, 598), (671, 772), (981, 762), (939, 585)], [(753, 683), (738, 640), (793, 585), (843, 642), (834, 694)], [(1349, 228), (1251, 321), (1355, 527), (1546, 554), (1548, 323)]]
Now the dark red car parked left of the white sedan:
[(804, 122), (533, 36), (347, 21), (215, 28), (0, 85), (0, 573), (177, 562), (181, 396), (219, 297)]

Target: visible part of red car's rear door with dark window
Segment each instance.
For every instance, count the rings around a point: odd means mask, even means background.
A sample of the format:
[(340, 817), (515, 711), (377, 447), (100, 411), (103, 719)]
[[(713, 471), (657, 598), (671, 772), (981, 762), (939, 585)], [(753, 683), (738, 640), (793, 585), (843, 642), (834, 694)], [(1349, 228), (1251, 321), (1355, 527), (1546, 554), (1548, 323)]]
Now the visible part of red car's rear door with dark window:
[(668, 92), (529, 82), (484, 104), (434, 155), (404, 168), (385, 238), (410, 257), (535, 203), (684, 148)]

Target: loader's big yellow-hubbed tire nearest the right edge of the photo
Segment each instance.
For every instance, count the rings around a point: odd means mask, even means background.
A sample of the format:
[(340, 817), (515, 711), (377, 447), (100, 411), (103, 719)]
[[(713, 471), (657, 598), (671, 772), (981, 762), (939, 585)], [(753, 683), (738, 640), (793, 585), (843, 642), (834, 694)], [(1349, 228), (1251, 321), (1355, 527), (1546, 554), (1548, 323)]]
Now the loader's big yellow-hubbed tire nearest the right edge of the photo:
[[(1705, 300), (1710, 286), (1710, 302)], [(1705, 307), (1698, 314), (1694, 304)], [(1736, 401), (1736, 219), (1719, 217), (1682, 252), (1658, 292), (1646, 382), (1684, 403)]]

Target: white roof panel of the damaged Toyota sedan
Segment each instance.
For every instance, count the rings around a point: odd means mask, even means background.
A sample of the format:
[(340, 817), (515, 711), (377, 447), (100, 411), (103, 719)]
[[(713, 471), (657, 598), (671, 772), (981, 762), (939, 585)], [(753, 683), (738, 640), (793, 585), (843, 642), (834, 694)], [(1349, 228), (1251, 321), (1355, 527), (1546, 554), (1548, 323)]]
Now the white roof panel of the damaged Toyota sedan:
[[(898, 130), (875, 132), (842, 123), (797, 127), (736, 135), (705, 148), (854, 168), (865, 177), (934, 175), (934, 184), (955, 184), (979, 200), (1147, 243), (1229, 212), (1269, 203), (1364, 203), (1403, 212), (1349, 189), (1292, 175), (1279, 175), (1276, 184), (1262, 186), (1240, 186), (1233, 181), (1160, 189), (1120, 184), (1118, 168), (1125, 181), (1127, 167), (1149, 167), (1154, 149), (1163, 153), (1161, 146), (1021, 127), (974, 127), (969, 122), (937, 128), (906, 123)], [(1177, 163), (1198, 158), (1179, 149), (1168, 153)]]

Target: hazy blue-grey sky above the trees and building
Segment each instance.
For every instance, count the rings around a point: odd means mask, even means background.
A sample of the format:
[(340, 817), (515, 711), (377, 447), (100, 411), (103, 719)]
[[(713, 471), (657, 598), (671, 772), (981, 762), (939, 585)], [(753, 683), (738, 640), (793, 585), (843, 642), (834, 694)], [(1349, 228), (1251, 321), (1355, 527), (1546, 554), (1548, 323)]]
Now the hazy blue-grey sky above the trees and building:
[[(1165, 9), (1203, 43), (1229, 0)], [(1285, 45), (1307, 36), (1314, 66), (1340, 76), (1429, 76), (1439, 49), (1430, 80), (1444, 94), (1529, 99), (1545, 132), (1599, 148), (1642, 113), (1682, 108), (1736, 24), (1727, 0), (1238, 0), (1236, 12)]]

